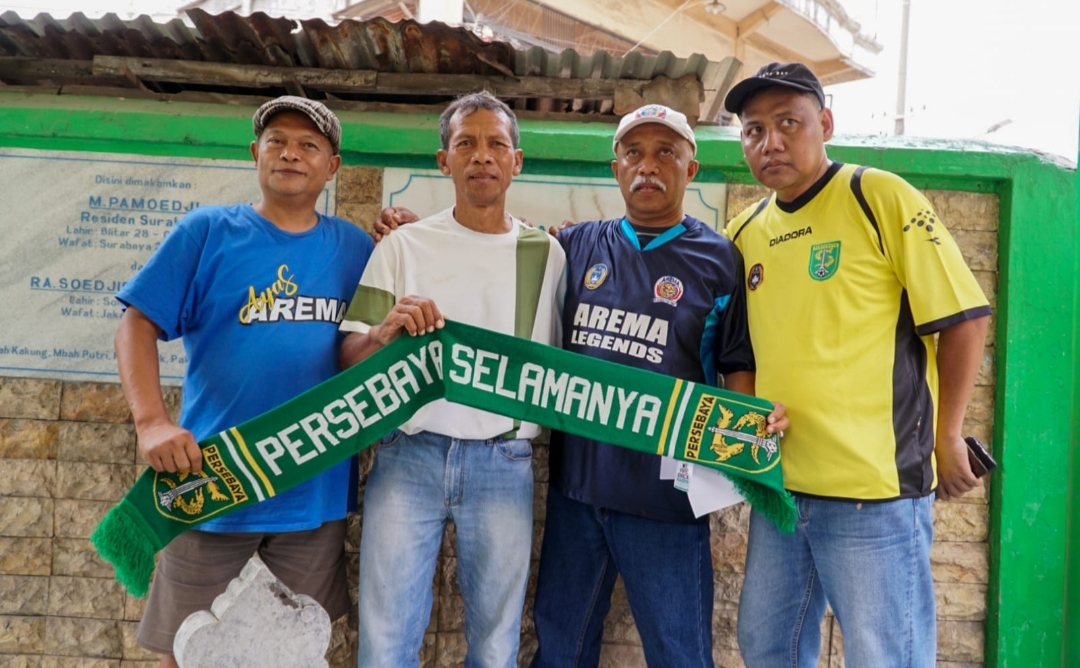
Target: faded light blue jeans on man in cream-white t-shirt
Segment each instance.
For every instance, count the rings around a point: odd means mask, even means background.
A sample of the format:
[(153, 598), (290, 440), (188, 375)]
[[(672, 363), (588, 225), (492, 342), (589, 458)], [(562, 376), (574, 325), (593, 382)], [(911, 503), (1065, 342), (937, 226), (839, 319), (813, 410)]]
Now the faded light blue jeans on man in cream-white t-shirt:
[(447, 520), (457, 527), (464, 665), (513, 668), (532, 544), (532, 447), (394, 432), (364, 490), (360, 668), (417, 666)]

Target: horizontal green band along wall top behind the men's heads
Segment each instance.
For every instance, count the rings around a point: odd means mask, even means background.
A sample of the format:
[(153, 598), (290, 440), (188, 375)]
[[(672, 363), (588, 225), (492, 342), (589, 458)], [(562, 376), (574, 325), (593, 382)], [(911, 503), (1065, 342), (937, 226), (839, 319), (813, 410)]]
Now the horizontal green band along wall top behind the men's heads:
[[(0, 92), (0, 146), (246, 160), (249, 107)], [(430, 167), (438, 148), (434, 114), (339, 113), (347, 164)], [(523, 121), (526, 172), (608, 176), (610, 123)], [(738, 134), (699, 127), (702, 178), (751, 183)], [(895, 172), (921, 187), (994, 192), (1014, 165), (1064, 161), (981, 141), (838, 136), (831, 155)], [(543, 168), (543, 172), (540, 172)]]

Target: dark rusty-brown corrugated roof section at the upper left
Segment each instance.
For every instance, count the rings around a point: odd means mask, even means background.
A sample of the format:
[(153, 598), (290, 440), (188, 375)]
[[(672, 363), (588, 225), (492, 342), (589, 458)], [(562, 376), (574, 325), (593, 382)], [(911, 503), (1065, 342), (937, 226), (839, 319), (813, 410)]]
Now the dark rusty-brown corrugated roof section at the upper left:
[(211, 15), (199, 9), (187, 15), (193, 25), (180, 19), (158, 24), (147, 16), (121, 21), (116, 14), (95, 19), (80, 13), (66, 19), (39, 14), (24, 19), (6, 12), (0, 15), (0, 55), (62, 59), (108, 55), (431, 73), (497, 73), (499, 69), (485, 68), (484, 60), (513, 63), (508, 45), (485, 44), (467, 30), (443, 24), (376, 18), (329, 26), (318, 18), (273, 18), (261, 12)]

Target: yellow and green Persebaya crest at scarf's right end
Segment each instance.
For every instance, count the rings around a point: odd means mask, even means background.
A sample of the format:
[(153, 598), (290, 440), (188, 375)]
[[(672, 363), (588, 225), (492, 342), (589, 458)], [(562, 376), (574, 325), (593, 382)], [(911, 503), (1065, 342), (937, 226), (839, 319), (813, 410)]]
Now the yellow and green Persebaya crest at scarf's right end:
[[(752, 410), (738, 420), (733, 419), (734, 412), (725, 406), (719, 397), (702, 395), (693, 411), (693, 422), (690, 424), (690, 435), (686, 444), (687, 459), (728, 462), (734, 465), (738, 460), (746, 456), (744, 452), (746, 446), (750, 446), (750, 456), (755, 464), (761, 465), (762, 452), (765, 461), (772, 462), (772, 458), (780, 452), (780, 447), (777, 435), (769, 434), (766, 430), (768, 425), (766, 417)], [(703, 451), (704, 447), (708, 448), (712, 455)]]

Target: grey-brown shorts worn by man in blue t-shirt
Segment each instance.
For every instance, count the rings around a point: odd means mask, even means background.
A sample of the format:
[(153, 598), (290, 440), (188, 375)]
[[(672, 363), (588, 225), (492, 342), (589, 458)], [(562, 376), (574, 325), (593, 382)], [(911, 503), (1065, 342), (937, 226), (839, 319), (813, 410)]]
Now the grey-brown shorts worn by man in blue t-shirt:
[(340, 617), (351, 604), (345, 531), (342, 519), (288, 533), (181, 533), (158, 559), (135, 642), (171, 655), (180, 624), (191, 613), (210, 610), (255, 553), (286, 587), (319, 601), (330, 619)]

